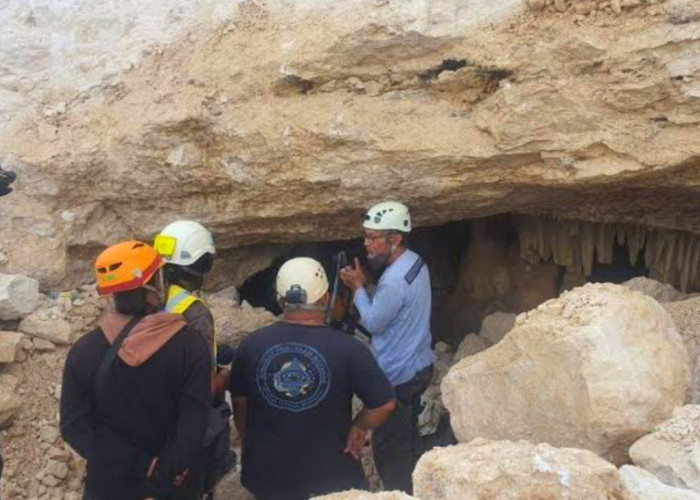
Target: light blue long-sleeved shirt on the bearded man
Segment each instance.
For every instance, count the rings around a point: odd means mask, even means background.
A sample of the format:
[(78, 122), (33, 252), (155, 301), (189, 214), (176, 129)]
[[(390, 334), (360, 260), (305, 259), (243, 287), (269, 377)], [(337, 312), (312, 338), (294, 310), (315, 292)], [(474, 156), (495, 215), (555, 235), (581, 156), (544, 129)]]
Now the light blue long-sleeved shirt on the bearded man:
[(377, 362), (394, 386), (408, 382), (433, 362), (428, 266), (423, 265), (411, 283), (412, 276), (406, 279), (417, 259), (418, 254), (407, 249), (384, 271), (371, 297), (364, 288), (355, 293)]

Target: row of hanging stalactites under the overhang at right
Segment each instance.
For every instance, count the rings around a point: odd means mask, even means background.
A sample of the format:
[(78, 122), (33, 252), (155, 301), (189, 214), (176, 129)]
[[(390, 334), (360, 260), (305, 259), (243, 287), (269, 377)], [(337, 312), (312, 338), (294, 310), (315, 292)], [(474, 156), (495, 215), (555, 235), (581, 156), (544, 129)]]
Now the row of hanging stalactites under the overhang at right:
[(529, 262), (552, 260), (586, 276), (593, 265), (613, 263), (613, 248), (626, 245), (631, 263), (644, 259), (650, 277), (679, 286), (700, 288), (700, 235), (631, 224), (598, 224), (557, 217), (513, 216), (521, 256)]

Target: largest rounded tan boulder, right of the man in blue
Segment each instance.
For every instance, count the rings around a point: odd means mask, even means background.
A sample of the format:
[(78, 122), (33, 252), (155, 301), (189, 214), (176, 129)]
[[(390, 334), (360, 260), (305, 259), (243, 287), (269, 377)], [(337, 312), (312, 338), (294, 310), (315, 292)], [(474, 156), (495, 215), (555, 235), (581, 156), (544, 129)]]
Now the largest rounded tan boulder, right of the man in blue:
[(662, 306), (588, 284), (523, 314), (497, 345), (442, 383), (452, 427), (475, 437), (586, 448), (620, 464), (682, 404), (688, 355)]

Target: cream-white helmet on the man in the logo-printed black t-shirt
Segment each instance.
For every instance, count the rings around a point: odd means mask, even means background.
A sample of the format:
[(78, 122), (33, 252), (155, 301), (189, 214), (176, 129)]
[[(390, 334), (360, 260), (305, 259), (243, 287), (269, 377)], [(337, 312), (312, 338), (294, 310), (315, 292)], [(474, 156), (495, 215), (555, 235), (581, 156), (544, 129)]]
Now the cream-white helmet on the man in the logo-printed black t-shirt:
[[(296, 293), (298, 304), (313, 304), (328, 291), (328, 278), (323, 266), (310, 257), (296, 257), (285, 262), (277, 272), (277, 300)], [(291, 291), (291, 292), (290, 292)]]

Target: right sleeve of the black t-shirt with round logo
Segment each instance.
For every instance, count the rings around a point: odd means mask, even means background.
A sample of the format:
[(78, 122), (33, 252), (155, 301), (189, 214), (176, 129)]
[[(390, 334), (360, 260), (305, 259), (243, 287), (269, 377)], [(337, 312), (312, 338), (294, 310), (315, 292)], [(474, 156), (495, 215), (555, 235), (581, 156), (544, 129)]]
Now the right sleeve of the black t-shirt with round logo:
[(366, 408), (379, 408), (395, 399), (394, 388), (379, 368), (374, 356), (360, 342), (352, 340), (350, 384)]

